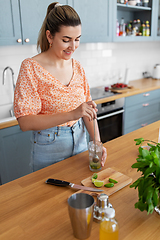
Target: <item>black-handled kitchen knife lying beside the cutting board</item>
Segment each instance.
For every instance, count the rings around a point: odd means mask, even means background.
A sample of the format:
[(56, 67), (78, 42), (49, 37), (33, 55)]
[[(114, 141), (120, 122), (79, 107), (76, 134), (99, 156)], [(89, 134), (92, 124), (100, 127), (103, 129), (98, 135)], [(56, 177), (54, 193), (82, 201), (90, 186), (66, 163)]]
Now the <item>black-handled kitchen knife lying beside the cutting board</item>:
[(85, 191), (91, 191), (91, 192), (102, 192), (102, 189), (97, 189), (97, 188), (90, 188), (90, 187), (85, 187), (82, 185), (77, 185), (74, 183), (58, 180), (58, 179), (53, 179), (49, 178), (47, 179), (46, 183), (56, 185), (56, 186), (61, 186), (61, 187), (71, 187), (71, 188), (76, 188), (76, 189), (82, 189)]

